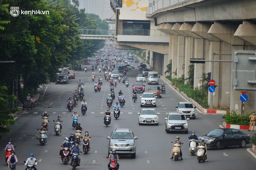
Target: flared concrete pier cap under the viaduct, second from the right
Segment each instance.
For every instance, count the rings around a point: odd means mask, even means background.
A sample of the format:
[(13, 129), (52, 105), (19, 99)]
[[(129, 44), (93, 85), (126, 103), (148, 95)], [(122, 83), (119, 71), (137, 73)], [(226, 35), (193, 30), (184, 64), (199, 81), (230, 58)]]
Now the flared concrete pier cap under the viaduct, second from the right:
[(243, 40), (233, 36), (237, 28), (238, 25), (223, 25), (219, 22), (215, 22), (211, 25), (208, 34), (231, 45), (249, 45)]

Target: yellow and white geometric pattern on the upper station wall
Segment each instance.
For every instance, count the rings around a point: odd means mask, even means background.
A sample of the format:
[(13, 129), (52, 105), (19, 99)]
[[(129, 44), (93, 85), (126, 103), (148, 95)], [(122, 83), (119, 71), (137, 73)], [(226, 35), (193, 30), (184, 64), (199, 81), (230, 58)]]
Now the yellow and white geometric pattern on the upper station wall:
[(123, 0), (122, 8), (127, 8), (130, 11), (146, 11), (148, 0)]

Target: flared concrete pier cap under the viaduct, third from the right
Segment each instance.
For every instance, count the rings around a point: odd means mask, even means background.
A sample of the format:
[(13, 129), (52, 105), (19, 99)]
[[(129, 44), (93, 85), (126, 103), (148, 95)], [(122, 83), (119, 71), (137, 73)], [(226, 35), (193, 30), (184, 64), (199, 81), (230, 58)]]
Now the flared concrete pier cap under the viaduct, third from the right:
[(196, 24), (193, 26), (191, 32), (199, 35), (200, 37), (202, 37), (208, 41), (220, 41), (220, 39), (207, 33), (210, 28), (211, 28), (211, 24), (202, 24), (200, 22), (196, 22)]

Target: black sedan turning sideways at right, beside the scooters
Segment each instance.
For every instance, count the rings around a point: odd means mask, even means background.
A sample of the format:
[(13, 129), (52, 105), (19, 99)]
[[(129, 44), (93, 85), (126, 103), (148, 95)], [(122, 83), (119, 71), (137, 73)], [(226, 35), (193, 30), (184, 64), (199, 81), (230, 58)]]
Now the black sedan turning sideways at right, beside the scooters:
[(201, 142), (200, 138), (204, 138), (207, 147), (216, 147), (216, 149), (219, 150), (220, 147), (238, 145), (240, 148), (244, 148), (246, 144), (249, 144), (250, 135), (238, 129), (220, 128), (198, 137), (198, 142)]

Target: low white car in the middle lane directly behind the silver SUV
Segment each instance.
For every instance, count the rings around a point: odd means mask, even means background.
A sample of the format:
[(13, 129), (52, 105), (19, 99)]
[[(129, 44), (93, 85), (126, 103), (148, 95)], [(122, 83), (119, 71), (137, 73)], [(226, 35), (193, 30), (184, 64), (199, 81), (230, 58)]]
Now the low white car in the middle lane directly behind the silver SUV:
[(143, 108), (139, 115), (139, 125), (142, 124), (155, 124), (158, 125), (158, 115), (154, 108)]

